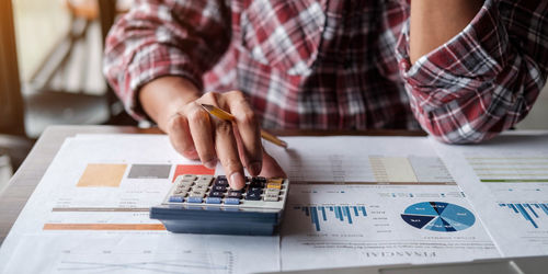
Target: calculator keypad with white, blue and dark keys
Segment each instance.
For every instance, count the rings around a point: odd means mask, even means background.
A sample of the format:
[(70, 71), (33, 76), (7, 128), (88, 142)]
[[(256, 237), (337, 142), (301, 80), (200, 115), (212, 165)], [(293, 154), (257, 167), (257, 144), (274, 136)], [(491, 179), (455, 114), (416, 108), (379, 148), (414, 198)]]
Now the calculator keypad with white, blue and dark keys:
[(179, 175), (165, 202), (207, 205), (242, 205), (246, 203), (260, 206), (256, 202), (279, 202), (285, 196), (287, 183), (284, 179), (262, 176), (247, 178), (242, 190), (231, 190), (225, 175)]

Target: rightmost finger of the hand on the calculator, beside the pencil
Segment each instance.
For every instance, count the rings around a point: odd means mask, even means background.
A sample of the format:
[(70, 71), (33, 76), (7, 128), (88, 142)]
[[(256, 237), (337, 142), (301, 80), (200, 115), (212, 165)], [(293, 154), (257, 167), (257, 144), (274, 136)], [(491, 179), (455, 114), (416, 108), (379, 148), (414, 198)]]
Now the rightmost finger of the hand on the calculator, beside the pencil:
[(241, 140), (239, 147), (243, 152), (243, 163), (251, 175), (258, 175), (262, 169), (263, 150), (261, 145), (261, 129), (255, 113), (249, 105), (241, 91), (231, 91), (224, 94), (221, 105), (236, 117), (236, 136)]

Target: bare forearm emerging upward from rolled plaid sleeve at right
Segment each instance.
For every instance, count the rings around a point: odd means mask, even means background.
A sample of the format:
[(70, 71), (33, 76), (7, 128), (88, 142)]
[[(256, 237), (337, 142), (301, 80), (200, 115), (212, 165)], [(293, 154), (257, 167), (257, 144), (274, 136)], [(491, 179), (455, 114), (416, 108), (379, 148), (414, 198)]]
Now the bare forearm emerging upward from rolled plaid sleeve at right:
[(482, 4), (482, 0), (411, 1), (411, 64), (463, 31)]

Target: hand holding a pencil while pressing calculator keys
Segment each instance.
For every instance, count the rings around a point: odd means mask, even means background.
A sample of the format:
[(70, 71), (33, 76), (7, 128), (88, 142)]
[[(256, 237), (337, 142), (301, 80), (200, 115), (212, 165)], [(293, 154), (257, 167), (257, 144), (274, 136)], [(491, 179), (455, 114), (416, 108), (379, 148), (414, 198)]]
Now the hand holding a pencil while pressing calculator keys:
[[(139, 99), (145, 111), (168, 133), (178, 152), (190, 159), (199, 158), (209, 169), (220, 161), (232, 189), (244, 186), (243, 167), (251, 175), (286, 176), (264, 151), (259, 123), (242, 92), (208, 92), (199, 96), (187, 80), (165, 77), (146, 84)], [(202, 103), (230, 112), (236, 122), (210, 116)]]

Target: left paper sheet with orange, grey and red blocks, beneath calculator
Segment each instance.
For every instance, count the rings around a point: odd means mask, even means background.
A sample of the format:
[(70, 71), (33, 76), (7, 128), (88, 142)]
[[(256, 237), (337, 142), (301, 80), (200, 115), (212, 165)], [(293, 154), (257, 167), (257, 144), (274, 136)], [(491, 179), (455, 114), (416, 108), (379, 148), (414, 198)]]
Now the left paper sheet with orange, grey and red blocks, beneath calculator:
[(3, 242), (0, 273), (278, 271), (277, 236), (174, 235), (149, 218), (174, 176), (206, 172), (165, 136), (68, 138)]

